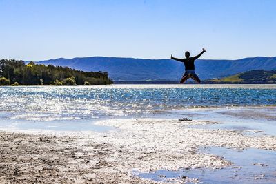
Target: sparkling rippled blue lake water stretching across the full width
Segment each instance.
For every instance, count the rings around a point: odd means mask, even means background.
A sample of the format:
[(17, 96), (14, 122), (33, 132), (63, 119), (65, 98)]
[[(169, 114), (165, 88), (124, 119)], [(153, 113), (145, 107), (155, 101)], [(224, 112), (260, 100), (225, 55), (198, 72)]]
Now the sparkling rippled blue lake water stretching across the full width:
[[(276, 85), (1, 87), (2, 118), (99, 119), (199, 107), (276, 105)], [(4, 115), (3, 115), (4, 113)]]

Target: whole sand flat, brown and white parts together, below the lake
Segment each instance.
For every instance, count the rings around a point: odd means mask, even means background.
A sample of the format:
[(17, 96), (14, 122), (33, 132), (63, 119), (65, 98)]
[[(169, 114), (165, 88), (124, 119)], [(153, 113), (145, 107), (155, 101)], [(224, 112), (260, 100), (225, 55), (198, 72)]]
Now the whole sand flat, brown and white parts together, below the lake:
[[(0, 132), (0, 183), (162, 183), (135, 172), (224, 168), (233, 163), (202, 147), (276, 150), (276, 137), (242, 130), (206, 130), (190, 125), (215, 121), (110, 119), (109, 132)], [(197, 178), (179, 176), (175, 183)], [(164, 181), (165, 182), (165, 181)], [(166, 181), (167, 182), (167, 181)], [(165, 183), (166, 183), (165, 182)]]

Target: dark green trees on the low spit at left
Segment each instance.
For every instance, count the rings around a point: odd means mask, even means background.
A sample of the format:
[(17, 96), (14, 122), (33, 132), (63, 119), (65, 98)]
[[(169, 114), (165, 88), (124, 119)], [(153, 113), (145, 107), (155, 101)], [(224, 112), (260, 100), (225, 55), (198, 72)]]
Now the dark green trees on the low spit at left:
[(108, 72), (83, 72), (68, 67), (0, 60), (0, 85), (110, 85)]

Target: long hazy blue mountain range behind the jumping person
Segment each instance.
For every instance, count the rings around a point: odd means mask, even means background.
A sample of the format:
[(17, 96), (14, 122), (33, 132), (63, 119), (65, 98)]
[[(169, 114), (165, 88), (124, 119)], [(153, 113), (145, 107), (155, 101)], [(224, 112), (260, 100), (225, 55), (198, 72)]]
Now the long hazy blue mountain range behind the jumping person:
[[(83, 71), (107, 71), (114, 81), (179, 81), (184, 64), (171, 59), (83, 57), (50, 59), (41, 64), (68, 66)], [(238, 60), (198, 59), (196, 72), (202, 80), (222, 78), (250, 70), (276, 70), (276, 57)]]

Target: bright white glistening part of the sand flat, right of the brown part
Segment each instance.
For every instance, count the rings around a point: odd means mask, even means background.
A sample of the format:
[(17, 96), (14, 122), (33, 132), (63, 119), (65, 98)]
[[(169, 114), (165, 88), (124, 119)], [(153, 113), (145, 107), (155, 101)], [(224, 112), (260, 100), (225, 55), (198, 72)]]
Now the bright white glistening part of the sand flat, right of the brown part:
[(143, 172), (178, 170), (181, 167), (220, 168), (230, 165), (220, 157), (197, 152), (199, 147), (217, 146), (276, 150), (274, 136), (247, 136), (237, 130), (206, 130), (188, 125), (216, 123), (212, 121), (178, 121), (170, 119), (114, 119), (98, 121), (98, 125), (118, 127), (106, 138), (116, 147), (130, 153), (119, 156), (124, 167)]

